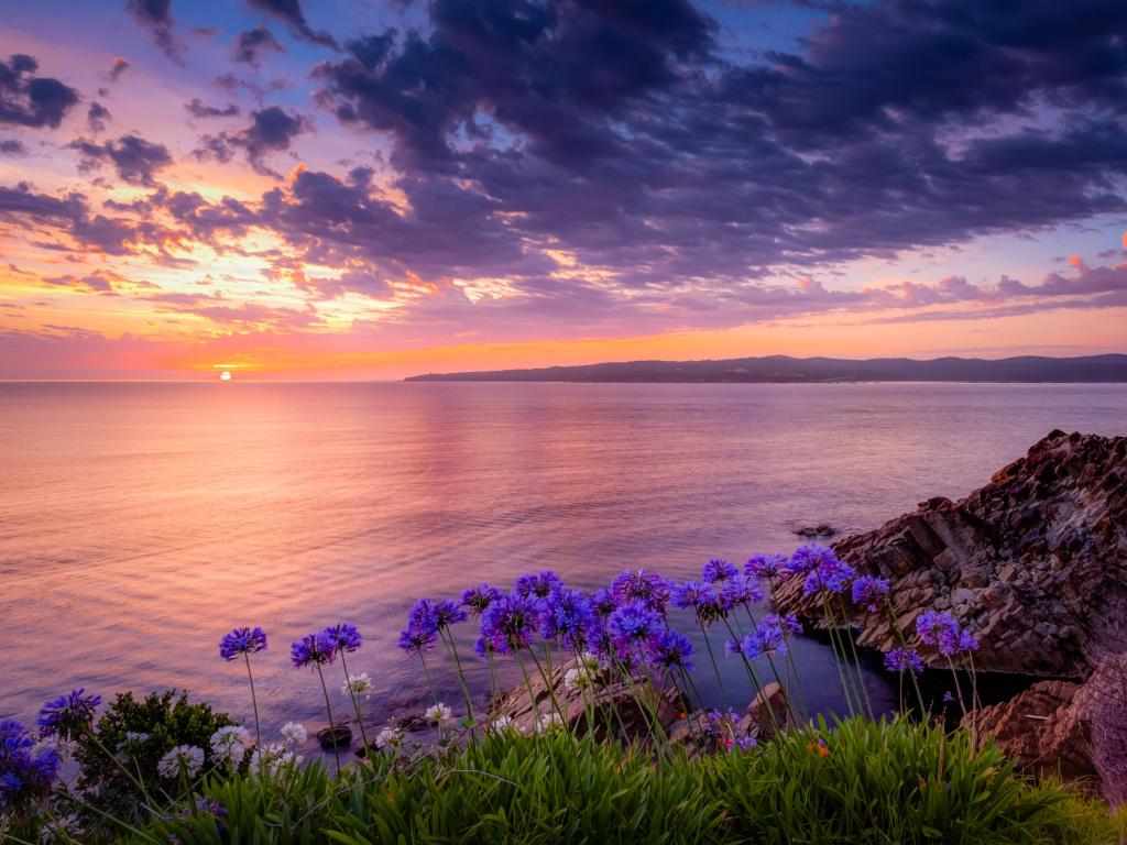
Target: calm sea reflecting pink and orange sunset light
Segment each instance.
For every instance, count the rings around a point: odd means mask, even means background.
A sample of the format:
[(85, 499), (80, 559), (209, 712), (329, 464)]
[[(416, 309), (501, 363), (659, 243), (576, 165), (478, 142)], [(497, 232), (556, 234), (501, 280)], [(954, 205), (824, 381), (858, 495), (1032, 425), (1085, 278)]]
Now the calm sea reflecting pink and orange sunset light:
[[(289, 643), (347, 620), (380, 722), (427, 700), (394, 648), (417, 596), (789, 551), (962, 496), (1053, 428), (1124, 434), (1127, 385), (0, 384), (0, 714), (179, 686), (249, 719), (216, 641), (258, 624), (264, 722), (316, 724)], [(835, 706), (828, 650), (799, 659)]]

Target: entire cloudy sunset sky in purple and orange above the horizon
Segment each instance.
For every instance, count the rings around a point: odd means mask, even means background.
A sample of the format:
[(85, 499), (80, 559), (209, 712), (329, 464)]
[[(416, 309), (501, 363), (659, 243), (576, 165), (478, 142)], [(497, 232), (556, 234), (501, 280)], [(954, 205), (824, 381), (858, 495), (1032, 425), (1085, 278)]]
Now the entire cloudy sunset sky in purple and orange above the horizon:
[(38, 0), (0, 379), (1127, 352), (1121, 0)]

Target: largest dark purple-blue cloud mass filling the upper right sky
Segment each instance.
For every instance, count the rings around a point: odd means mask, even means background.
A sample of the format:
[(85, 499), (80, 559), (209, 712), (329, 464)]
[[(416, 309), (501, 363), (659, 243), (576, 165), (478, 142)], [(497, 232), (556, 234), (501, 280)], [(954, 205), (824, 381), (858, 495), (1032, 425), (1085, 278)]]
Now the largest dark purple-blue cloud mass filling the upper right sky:
[(740, 63), (676, 0), (428, 12), (426, 34), (349, 41), (317, 101), (391, 137), (411, 202), (477, 193), (462, 226), (504, 220), (498, 240), (557, 243), (627, 287), (1127, 211), (1118, 1), (842, 5), (801, 52)]

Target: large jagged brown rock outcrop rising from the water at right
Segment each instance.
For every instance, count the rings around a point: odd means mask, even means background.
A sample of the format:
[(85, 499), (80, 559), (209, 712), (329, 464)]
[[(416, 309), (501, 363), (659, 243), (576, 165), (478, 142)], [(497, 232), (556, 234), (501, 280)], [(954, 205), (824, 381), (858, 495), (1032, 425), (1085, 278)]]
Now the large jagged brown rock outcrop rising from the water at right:
[[(929, 499), (833, 548), (889, 579), (908, 641), (921, 612), (946, 610), (978, 638), (979, 669), (1082, 677), (1111, 608), (1127, 603), (1127, 437), (1053, 432), (965, 499)], [(797, 582), (778, 599), (823, 619)], [(860, 644), (899, 644), (887, 614), (845, 613)]]

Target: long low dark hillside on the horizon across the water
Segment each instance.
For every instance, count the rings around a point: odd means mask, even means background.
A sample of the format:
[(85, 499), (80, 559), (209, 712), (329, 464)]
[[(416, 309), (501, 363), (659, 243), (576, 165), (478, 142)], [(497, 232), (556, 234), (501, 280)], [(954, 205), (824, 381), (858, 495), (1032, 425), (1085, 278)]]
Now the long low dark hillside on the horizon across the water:
[(1079, 358), (763, 358), (630, 361), (539, 370), (428, 373), (446, 382), (1127, 382), (1127, 355)]

